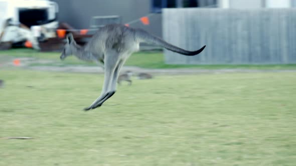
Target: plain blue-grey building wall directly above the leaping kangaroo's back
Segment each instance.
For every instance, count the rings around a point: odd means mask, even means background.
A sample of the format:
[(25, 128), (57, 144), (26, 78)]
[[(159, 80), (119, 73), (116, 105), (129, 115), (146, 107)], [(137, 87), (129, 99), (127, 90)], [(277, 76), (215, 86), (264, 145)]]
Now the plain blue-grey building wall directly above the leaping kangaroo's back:
[[(120, 15), (122, 23), (129, 22), (151, 13), (151, 0), (53, 0), (59, 4), (59, 21), (75, 28), (89, 28), (90, 19), (96, 15)], [(141, 22), (131, 27), (141, 27), (162, 36), (162, 16), (150, 17), (150, 25)]]

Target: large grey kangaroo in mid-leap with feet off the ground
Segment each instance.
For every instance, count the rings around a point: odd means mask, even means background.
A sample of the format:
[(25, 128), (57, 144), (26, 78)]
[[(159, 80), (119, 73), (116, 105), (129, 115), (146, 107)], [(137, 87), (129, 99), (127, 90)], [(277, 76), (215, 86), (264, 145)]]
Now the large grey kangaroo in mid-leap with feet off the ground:
[(101, 94), (84, 110), (101, 106), (115, 93), (120, 68), (129, 55), (139, 50), (140, 42), (160, 45), (188, 56), (199, 54), (206, 47), (204, 45), (198, 50), (188, 51), (172, 45), (143, 29), (127, 27), (122, 24), (108, 24), (99, 28), (84, 46), (80, 46), (75, 42), (72, 33), (68, 33), (66, 38), (67, 43), (60, 56), (61, 60), (69, 55), (75, 55), (81, 60), (95, 60), (104, 64), (104, 83)]

